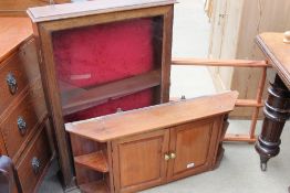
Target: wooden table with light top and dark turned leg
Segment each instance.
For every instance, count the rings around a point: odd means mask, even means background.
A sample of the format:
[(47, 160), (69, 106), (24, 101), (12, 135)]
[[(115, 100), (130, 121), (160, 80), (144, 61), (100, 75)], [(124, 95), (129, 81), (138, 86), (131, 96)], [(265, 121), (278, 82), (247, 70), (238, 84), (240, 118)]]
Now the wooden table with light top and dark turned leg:
[(260, 167), (267, 170), (270, 158), (280, 152), (280, 136), (290, 117), (290, 44), (283, 42), (282, 33), (262, 33), (256, 42), (277, 72), (268, 88), (265, 103), (262, 130), (255, 146), (260, 156)]

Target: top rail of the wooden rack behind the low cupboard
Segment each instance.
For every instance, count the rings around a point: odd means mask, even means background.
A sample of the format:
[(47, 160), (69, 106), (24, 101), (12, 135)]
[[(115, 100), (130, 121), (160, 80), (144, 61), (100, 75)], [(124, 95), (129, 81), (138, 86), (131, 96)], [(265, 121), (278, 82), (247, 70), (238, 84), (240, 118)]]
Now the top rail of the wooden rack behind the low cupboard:
[(173, 58), (173, 65), (193, 65), (193, 66), (228, 66), (228, 67), (271, 67), (266, 61), (247, 60), (208, 60), (182, 57)]

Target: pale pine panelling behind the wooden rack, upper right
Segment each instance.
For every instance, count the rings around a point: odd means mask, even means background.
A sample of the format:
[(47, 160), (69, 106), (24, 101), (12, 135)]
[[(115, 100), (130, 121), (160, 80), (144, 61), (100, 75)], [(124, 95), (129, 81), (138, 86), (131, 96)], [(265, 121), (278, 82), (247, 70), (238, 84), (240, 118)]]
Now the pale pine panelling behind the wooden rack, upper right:
[[(255, 44), (255, 37), (262, 32), (283, 32), (290, 28), (290, 1), (280, 0), (227, 0), (226, 11), (219, 11), (216, 7), (224, 0), (214, 0), (215, 14), (211, 19), (211, 45), (209, 46), (210, 58), (239, 58), (239, 60), (262, 60), (263, 56)], [(215, 35), (219, 14), (226, 15), (221, 19), (225, 24), (222, 43)], [(279, 21), (279, 22), (277, 22)], [(220, 54), (224, 53), (224, 54)], [(268, 71), (272, 74), (272, 71)], [(221, 69), (211, 73), (216, 83), (215, 86), (238, 90), (239, 98), (253, 99), (258, 88), (261, 71), (252, 68)], [(218, 76), (218, 77), (217, 77)], [(266, 85), (268, 87), (268, 85)], [(266, 92), (265, 92), (266, 93)], [(266, 95), (263, 94), (263, 98)], [(250, 118), (252, 108), (235, 109), (231, 112), (234, 118)], [(259, 115), (261, 117), (261, 112)]]

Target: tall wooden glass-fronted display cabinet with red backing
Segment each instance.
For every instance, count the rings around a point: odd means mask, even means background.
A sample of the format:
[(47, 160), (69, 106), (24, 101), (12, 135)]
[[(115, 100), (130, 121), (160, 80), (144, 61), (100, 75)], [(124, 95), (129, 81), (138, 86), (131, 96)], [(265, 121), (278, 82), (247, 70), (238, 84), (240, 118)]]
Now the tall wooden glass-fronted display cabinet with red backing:
[[(65, 122), (168, 101), (174, 2), (97, 0), (28, 10), (66, 189), (74, 186), (74, 170)], [(92, 142), (87, 151), (102, 148)]]

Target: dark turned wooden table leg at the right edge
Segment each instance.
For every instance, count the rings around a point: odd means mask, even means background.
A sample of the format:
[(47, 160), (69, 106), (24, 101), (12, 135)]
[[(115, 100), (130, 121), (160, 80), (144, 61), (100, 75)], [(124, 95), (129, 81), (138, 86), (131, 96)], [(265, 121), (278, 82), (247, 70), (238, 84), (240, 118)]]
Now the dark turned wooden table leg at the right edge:
[(262, 131), (255, 146), (260, 154), (262, 171), (267, 170), (268, 160), (279, 153), (280, 136), (286, 120), (290, 117), (290, 92), (278, 75), (270, 85), (263, 108)]

